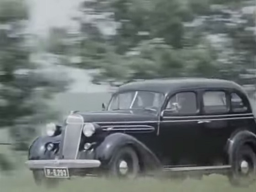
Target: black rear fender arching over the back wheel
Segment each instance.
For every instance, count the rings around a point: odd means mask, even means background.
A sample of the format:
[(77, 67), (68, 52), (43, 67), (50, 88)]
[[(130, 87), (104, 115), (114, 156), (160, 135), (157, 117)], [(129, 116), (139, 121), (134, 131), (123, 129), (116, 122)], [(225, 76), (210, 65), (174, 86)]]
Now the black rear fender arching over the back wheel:
[(244, 144), (256, 148), (256, 135), (249, 130), (241, 130), (231, 135), (226, 147), (229, 165), (233, 165), (236, 150)]

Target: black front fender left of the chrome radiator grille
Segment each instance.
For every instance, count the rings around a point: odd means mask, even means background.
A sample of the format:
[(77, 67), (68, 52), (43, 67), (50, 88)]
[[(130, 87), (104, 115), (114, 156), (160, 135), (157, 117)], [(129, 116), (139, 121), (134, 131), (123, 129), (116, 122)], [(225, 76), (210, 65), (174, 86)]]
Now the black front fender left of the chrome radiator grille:
[(55, 137), (40, 136), (35, 139), (29, 147), (28, 159), (29, 160), (45, 160), (53, 159), (52, 153), (46, 150), (45, 145), (49, 142), (59, 142), (60, 135)]

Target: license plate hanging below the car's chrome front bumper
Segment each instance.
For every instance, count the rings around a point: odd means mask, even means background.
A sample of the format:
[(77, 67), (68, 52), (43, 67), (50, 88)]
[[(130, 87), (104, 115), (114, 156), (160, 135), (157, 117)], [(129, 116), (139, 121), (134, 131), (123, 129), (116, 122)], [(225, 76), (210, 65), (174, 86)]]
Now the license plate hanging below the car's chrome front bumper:
[(66, 167), (44, 167), (46, 177), (69, 178), (69, 169)]

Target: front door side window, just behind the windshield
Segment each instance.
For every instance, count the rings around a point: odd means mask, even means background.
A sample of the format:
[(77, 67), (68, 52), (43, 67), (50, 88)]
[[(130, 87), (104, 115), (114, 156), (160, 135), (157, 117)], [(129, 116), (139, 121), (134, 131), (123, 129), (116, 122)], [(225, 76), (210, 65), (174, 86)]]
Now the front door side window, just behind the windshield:
[(197, 114), (197, 96), (194, 92), (177, 93), (169, 100), (166, 109), (172, 114)]

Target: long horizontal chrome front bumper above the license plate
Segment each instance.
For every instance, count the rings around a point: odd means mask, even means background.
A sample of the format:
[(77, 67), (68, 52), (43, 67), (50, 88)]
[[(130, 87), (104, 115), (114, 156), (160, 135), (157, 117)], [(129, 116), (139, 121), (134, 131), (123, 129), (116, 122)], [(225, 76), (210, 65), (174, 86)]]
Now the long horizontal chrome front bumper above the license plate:
[(94, 168), (101, 165), (98, 160), (30, 160), (26, 162), (29, 169), (43, 169), (44, 167), (67, 167), (67, 168)]

